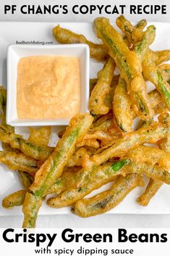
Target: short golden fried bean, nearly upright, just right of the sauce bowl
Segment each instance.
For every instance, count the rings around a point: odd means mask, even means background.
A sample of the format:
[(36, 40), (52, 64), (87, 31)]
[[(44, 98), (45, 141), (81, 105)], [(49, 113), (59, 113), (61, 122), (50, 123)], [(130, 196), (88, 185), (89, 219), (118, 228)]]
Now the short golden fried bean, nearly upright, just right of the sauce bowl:
[(106, 106), (104, 100), (106, 94), (109, 94), (111, 81), (114, 77), (114, 60), (109, 58), (106, 65), (98, 73), (98, 81), (91, 93), (88, 107), (93, 115), (106, 115), (109, 112), (109, 107)]

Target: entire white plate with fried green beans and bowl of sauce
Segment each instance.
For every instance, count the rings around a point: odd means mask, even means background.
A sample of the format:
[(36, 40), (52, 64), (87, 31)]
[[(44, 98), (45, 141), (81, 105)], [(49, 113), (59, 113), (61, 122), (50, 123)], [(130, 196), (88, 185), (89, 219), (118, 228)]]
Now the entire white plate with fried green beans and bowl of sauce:
[[(169, 213), (169, 23), (15, 25), (0, 32), (1, 212), (23, 228), (44, 212)], [(51, 44), (14, 44), (40, 28)]]

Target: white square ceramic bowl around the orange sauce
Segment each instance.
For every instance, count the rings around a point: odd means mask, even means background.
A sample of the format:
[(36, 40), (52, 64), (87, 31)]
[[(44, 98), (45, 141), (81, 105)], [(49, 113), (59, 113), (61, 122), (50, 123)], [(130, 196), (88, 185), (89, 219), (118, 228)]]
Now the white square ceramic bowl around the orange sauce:
[(81, 98), (80, 112), (88, 112), (90, 52), (86, 44), (52, 46), (10, 45), (7, 51), (7, 124), (12, 126), (68, 125), (68, 118), (20, 119), (17, 117), (17, 65), (22, 57), (72, 56), (80, 59)]

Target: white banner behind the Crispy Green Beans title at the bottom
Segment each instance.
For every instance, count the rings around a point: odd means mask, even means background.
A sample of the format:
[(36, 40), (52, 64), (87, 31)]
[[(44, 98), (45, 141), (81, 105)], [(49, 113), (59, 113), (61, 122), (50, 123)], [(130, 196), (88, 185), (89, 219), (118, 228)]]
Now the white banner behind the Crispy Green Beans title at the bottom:
[[(64, 237), (66, 237), (66, 239), (69, 239), (69, 235), (70, 234), (89, 234), (91, 236), (93, 236), (94, 234), (101, 234), (101, 236), (103, 234), (111, 234), (112, 236), (112, 241), (109, 242), (109, 239), (107, 238), (106, 239), (106, 243), (104, 242), (99, 242), (99, 243), (96, 243), (95, 241), (90, 241), (90, 242), (85, 242), (83, 241), (82, 239), (82, 236), (80, 237), (79, 239), (79, 242), (75, 242), (72, 241), (72, 242), (66, 242), (64, 241), (63, 239), (61, 239), (61, 233), (64, 231), (64, 228), (61, 228), (61, 229), (54, 229), (54, 228), (51, 228), (51, 229), (46, 229), (46, 230), (42, 230), (42, 229), (37, 229), (36, 231), (33, 231), (33, 230), (30, 230), (30, 231), (27, 231), (27, 235), (28, 234), (51, 234), (51, 236), (53, 236), (54, 234), (57, 234), (56, 235), (56, 238), (54, 239), (54, 242), (52, 243), (51, 247), (48, 247), (48, 249), (51, 249), (51, 256), (52, 255), (56, 255), (54, 254), (54, 249), (57, 249), (57, 250), (63, 250), (64, 248), (65, 249), (74, 249), (74, 253), (72, 254), (72, 256), (77, 256), (77, 255), (84, 255), (85, 254), (81, 253), (81, 254), (78, 254), (77, 253), (77, 249), (80, 249), (80, 247), (83, 247), (85, 248), (86, 250), (87, 249), (95, 249), (95, 248), (98, 248), (98, 249), (108, 249), (108, 255), (110, 256), (111, 255), (111, 249), (133, 249), (134, 252), (133, 254), (125, 254), (124, 255), (132, 255), (132, 256), (148, 256), (148, 255), (154, 255), (154, 256), (167, 256), (168, 253), (166, 252), (169, 252), (169, 236), (170, 236), (170, 229), (169, 230), (164, 230), (163, 228), (160, 228), (158, 231), (156, 231), (155, 229), (149, 229), (149, 228), (146, 228), (145, 231), (143, 231), (143, 229), (131, 229), (129, 228), (127, 230), (127, 236), (129, 236), (130, 234), (136, 234), (137, 236), (139, 236), (140, 234), (158, 234), (159, 236), (161, 236), (161, 234), (167, 234), (167, 239), (168, 241), (165, 242), (165, 243), (161, 243), (161, 242), (156, 242), (155, 239), (153, 239), (154, 242), (145, 242), (145, 243), (142, 243), (140, 241), (136, 241), (135, 243), (133, 242), (130, 242), (130, 241), (126, 241), (126, 242), (118, 242), (119, 239), (118, 239), (118, 230), (116, 228), (107, 228), (107, 230), (103, 229), (103, 228), (91, 228), (90, 231), (89, 229), (76, 229), (76, 228), (73, 228), (73, 232), (70, 233), (70, 231), (67, 231), (66, 235)], [(46, 241), (44, 242), (40, 242), (40, 246), (39, 247), (36, 247), (35, 244), (36, 242), (33, 242), (33, 243), (23, 243), (23, 238), (20, 237), (19, 238), (19, 242), (12, 242), (12, 243), (7, 243), (7, 241), (4, 241), (4, 239), (2, 239), (2, 234), (3, 234), (4, 230), (0, 230), (0, 242), (1, 242), (1, 255), (3, 256), (11, 256), (11, 255), (17, 255), (17, 256), (35, 256), (37, 255), (35, 253), (35, 249), (41, 249), (42, 247), (43, 248), (46, 248), (48, 246), (48, 243), (49, 243), (49, 239), (48, 237), (46, 236)], [(20, 229), (15, 229), (14, 232), (9, 232), (7, 234), (7, 238), (8, 239), (14, 239), (14, 234), (23, 234), (21, 228)], [(36, 236), (34, 236), (36, 238)], [(42, 236), (40, 236), (40, 240), (42, 239)], [(144, 236), (143, 236), (143, 239), (144, 239)], [(27, 239), (28, 240), (28, 239)], [(149, 239), (148, 239), (149, 240)], [(161, 240), (161, 239), (160, 239)], [(38, 241), (38, 239), (37, 239)], [(20, 249), (19, 249), (20, 247)], [(151, 252), (151, 253), (150, 253)], [(68, 253), (68, 251), (67, 251)], [(67, 253), (62, 253), (61, 254), (61, 251), (60, 251), (60, 256), (64, 256), (64, 255), (71, 255), (71, 254), (67, 254)], [(87, 253), (87, 251), (86, 251)], [(41, 255), (44, 255), (44, 254), (41, 254)], [(46, 253), (47, 255), (47, 253)], [(57, 254), (59, 255), (59, 254)], [(90, 255), (89, 254), (86, 254), (87, 256)], [(104, 254), (101, 254), (101, 253), (93, 253), (91, 255), (95, 255), (95, 256), (99, 256), (99, 255), (104, 255)], [(114, 254), (114, 255), (118, 255), (118, 254)], [(120, 255), (120, 254), (119, 254)]]

